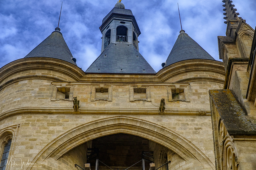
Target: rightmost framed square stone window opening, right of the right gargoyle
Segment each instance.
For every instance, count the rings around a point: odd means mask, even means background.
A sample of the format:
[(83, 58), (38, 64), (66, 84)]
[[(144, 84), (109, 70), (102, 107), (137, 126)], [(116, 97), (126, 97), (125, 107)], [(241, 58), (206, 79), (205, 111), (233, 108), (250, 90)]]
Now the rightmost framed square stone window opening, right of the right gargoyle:
[(184, 85), (171, 85), (167, 86), (168, 101), (186, 101), (190, 102), (188, 94), (188, 86)]

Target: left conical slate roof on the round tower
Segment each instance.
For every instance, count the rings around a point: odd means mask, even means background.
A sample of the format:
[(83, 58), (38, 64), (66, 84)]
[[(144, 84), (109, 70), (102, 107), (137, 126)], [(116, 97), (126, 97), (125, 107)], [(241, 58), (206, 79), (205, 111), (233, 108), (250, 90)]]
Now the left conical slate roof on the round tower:
[[(55, 29), (59, 30), (59, 29)], [(73, 60), (73, 56), (59, 31), (54, 31), (49, 35), (43, 42), (41, 42), (38, 46), (36, 46), (28, 55), (24, 58), (28, 57), (49, 57), (49, 58), (57, 58), (60, 60), (64, 60), (70, 62), (74, 65), (77, 65)]]

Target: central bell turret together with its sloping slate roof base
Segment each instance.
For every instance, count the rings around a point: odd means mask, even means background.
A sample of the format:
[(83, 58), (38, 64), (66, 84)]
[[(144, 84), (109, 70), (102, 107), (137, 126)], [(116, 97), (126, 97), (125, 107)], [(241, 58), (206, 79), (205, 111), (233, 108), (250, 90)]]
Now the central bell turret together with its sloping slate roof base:
[(140, 29), (132, 11), (125, 9), (121, 0), (103, 18), (100, 31), (102, 33), (101, 54), (86, 73), (156, 73), (139, 53)]

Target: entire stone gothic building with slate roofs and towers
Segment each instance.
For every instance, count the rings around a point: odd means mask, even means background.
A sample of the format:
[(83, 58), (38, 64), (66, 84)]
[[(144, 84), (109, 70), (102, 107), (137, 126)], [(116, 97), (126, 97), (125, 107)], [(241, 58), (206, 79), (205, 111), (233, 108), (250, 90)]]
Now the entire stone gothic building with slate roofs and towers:
[(181, 30), (156, 73), (119, 2), (86, 71), (59, 28), (2, 67), (0, 170), (256, 168), (255, 34), (223, 2), (223, 62)]

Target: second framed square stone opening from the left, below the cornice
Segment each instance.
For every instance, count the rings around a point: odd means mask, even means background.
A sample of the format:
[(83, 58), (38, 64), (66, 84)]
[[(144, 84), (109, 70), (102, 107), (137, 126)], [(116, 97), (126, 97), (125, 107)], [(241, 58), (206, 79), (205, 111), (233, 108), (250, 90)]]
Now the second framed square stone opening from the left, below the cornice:
[(91, 101), (96, 100), (112, 101), (112, 85), (92, 85)]

